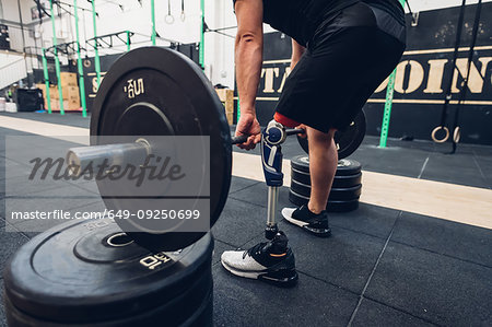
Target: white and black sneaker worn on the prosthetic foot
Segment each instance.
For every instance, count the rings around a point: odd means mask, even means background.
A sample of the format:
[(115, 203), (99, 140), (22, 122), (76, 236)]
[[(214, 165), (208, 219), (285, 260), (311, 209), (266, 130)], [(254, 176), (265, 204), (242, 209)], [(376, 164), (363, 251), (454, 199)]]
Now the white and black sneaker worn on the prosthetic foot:
[(221, 261), (233, 275), (281, 287), (292, 287), (298, 278), (294, 254), (282, 232), (272, 241), (259, 243), (247, 250), (226, 250), (222, 254)]

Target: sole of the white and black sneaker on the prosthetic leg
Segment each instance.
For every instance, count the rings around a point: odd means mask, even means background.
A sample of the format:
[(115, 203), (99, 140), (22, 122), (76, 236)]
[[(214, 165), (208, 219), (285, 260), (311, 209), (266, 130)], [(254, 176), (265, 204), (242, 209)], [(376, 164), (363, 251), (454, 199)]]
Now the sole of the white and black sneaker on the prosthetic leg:
[(278, 271), (243, 271), (234, 269), (222, 260), (221, 264), (222, 267), (224, 267), (232, 275), (249, 279), (258, 279), (277, 287), (291, 288), (295, 285), (298, 280), (298, 275), (295, 269)]

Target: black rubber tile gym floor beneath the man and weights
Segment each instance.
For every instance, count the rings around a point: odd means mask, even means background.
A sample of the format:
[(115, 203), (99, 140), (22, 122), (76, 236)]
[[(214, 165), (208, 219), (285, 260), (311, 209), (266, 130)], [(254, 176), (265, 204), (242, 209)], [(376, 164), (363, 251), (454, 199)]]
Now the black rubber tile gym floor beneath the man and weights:
[[(8, 116), (89, 127), (89, 119), (79, 115)], [(10, 160), (3, 147), (7, 135), (25, 133), (0, 128), (0, 215), (4, 215), (7, 178), (9, 189), (19, 192), (20, 207), (67, 197), (60, 202), (67, 210), (103, 208), (92, 183), (66, 183), (63, 189), (46, 185), (21, 188), (14, 173), (27, 166), (17, 164), (10, 176), (4, 175), (5, 161)], [(366, 137), (351, 157), (365, 171), (492, 187), (491, 147), (459, 144), (456, 154), (447, 155), (444, 152), (449, 144), (396, 139), (389, 140), (388, 149), (377, 144), (377, 138)], [(283, 151), (286, 159), (302, 153), (294, 138)], [(288, 195), (289, 189), (282, 188), (281, 208), (291, 207)], [(212, 230), (216, 326), (492, 326), (491, 230), (367, 203), (350, 213), (331, 213), (329, 238), (316, 238), (279, 223), (296, 257), (300, 281), (293, 289), (231, 276), (221, 267), (220, 255), (262, 241), (266, 199), (263, 183), (233, 177), (227, 203)], [(0, 223), (4, 226), (3, 218)], [(0, 230), (1, 270), (15, 249), (34, 235)], [(3, 306), (0, 324), (5, 324)]]

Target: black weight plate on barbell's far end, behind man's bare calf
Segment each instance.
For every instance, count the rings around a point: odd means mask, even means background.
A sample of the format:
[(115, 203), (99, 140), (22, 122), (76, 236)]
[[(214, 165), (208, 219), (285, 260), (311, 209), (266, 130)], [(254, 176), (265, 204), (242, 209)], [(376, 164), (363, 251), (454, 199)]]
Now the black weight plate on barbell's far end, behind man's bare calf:
[[(365, 129), (365, 114), (364, 110), (361, 110), (361, 113), (355, 116), (353, 122), (344, 131), (337, 131), (335, 133), (335, 143), (338, 148), (339, 160), (348, 157), (359, 149), (362, 141), (364, 140)], [(297, 141), (301, 148), (303, 148), (304, 152), (308, 154), (309, 145), (307, 138), (301, 138), (300, 136), (297, 136)]]

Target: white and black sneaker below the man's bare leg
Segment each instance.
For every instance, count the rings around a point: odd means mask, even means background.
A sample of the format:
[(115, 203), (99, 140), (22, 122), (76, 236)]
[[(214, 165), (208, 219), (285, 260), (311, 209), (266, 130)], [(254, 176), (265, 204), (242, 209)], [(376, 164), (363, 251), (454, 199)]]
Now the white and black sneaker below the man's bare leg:
[(303, 230), (319, 236), (328, 237), (331, 235), (331, 229), (328, 226), (328, 213), (326, 210), (319, 214), (311, 212), (306, 205), (301, 208), (283, 208), (282, 215), (285, 220)]

